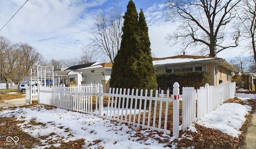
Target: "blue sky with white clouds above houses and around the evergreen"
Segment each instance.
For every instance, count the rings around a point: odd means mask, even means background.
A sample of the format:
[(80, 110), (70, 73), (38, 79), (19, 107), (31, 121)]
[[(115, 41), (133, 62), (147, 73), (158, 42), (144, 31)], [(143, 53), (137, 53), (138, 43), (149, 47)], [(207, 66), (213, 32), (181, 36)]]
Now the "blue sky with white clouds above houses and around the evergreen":
[[(8, 22), (27, 0), (0, 0), (0, 28)], [(81, 48), (89, 43), (89, 28), (100, 11), (121, 6), (126, 12), (129, 0), (28, 0), (19, 12), (0, 31), (12, 43), (28, 43), (46, 59), (80, 57)], [(166, 19), (166, 0), (134, 0), (142, 8), (149, 28), (153, 57), (180, 54), (180, 46), (166, 44), (166, 36), (180, 22)], [(241, 54), (242, 47), (225, 50), (217, 55), (229, 61)], [(196, 54), (188, 49), (186, 54)]]

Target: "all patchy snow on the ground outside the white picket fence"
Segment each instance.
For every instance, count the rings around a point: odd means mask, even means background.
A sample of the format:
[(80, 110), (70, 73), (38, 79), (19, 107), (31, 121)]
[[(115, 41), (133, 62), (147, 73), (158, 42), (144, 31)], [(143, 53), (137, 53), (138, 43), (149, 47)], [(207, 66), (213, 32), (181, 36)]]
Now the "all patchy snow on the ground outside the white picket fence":
[[(237, 94), (237, 97), (245, 102), (247, 99), (256, 99), (255, 94)], [(216, 110), (206, 114), (201, 120), (197, 121), (197, 124), (218, 129), (238, 137), (241, 133), (239, 128), (245, 121), (244, 116), (250, 110), (251, 107), (248, 105), (236, 103), (222, 104)], [(175, 139), (175, 137), (169, 135), (160, 136), (156, 131), (139, 130), (131, 125), (110, 122), (93, 115), (71, 112), (60, 108), (46, 109), (42, 105), (32, 108), (16, 108), (16, 110), (5, 108), (0, 113), (0, 117), (11, 117), (13, 115), (18, 120), (25, 120), (24, 123), (20, 124), (20, 127), (33, 137), (39, 138), (40, 136), (52, 133), (48, 138), (42, 140), (43, 146), (36, 146), (35, 148), (50, 147), (51, 145), (44, 143), (47, 139), (52, 141), (62, 139), (62, 141), (68, 142), (84, 138), (85, 145), (83, 147), (85, 148), (102, 146), (104, 149), (124, 147), (132, 149), (161, 149), (164, 148), (166, 143), (159, 143), (159, 139), (166, 139), (169, 143)], [(40, 122), (45, 125), (31, 125), (31, 121)], [(193, 125), (190, 126), (189, 130), (197, 132)], [(183, 137), (186, 136), (183, 135)], [(95, 140), (102, 141), (94, 143)], [(56, 147), (59, 145), (58, 143), (54, 144)], [(173, 143), (172, 147), (176, 147), (175, 143)]]

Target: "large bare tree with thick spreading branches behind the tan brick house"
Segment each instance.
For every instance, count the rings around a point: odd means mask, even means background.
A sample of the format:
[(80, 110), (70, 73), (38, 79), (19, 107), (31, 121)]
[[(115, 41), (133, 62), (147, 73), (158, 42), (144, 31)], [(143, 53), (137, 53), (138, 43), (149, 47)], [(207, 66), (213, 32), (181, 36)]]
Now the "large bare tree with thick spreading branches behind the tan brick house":
[[(195, 44), (202, 46), (202, 54), (215, 57), (220, 51), (238, 46), (237, 31), (231, 43), (224, 43), (225, 27), (236, 14), (234, 7), (241, 0), (168, 0), (166, 9), (171, 19), (183, 21), (176, 33), (168, 35), (168, 41), (185, 45), (183, 51)], [(232, 3), (231, 3), (232, 2)]]

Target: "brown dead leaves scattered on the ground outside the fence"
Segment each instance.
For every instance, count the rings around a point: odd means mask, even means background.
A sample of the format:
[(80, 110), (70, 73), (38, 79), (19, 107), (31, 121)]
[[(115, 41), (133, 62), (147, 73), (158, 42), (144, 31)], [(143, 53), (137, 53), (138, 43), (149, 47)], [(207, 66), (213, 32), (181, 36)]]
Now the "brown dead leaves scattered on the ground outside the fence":
[[(255, 108), (255, 101), (253, 100), (247, 100), (246, 103), (239, 98), (233, 98), (227, 101), (227, 103), (239, 103), (239, 104), (248, 104), (252, 106), (252, 112)], [(31, 108), (34, 108), (36, 104), (30, 105)], [(28, 106), (23, 106), (24, 108), (27, 108)], [(17, 108), (17, 107), (15, 107)], [(41, 108), (45, 108), (47, 110), (52, 110), (56, 107), (53, 106), (42, 106)], [(40, 109), (39, 109), (40, 110)], [(226, 133), (222, 133), (221, 131), (218, 131), (216, 129), (206, 128), (201, 125), (195, 124), (196, 130), (198, 132), (192, 132), (192, 131), (186, 131), (182, 133), (180, 131), (179, 139), (175, 139), (174, 141), (170, 141), (170, 137), (164, 137), (162, 133), (159, 133), (157, 131), (149, 131), (146, 129), (138, 128), (136, 129), (136, 133), (132, 135), (129, 140), (132, 141), (138, 141), (138, 142), (145, 142), (147, 139), (156, 139), (159, 143), (166, 143), (165, 147), (172, 148), (174, 145), (178, 148), (182, 147), (194, 147), (194, 148), (208, 148), (208, 149), (222, 149), (222, 148), (243, 148), (243, 141), (245, 138), (247, 127), (250, 125), (250, 122), (252, 120), (252, 116), (250, 114), (246, 115), (246, 122), (242, 125), (240, 128), (240, 131), (242, 131), (242, 135), (240, 135), (238, 138), (232, 137)], [(81, 149), (83, 145), (85, 145), (86, 141), (85, 139), (76, 139), (74, 141), (68, 141), (64, 142), (62, 140), (62, 137), (58, 137), (57, 140), (50, 140), (50, 136), (57, 135), (56, 133), (51, 133), (46, 136), (39, 136), (38, 138), (34, 138), (31, 135), (25, 133), (24, 131), (20, 130), (20, 128), (17, 126), (18, 124), (24, 123), (24, 121), (17, 121), (16, 118), (13, 116), (11, 118), (4, 117), (0, 118), (0, 142), (6, 142), (6, 137), (8, 136), (18, 136), (19, 137), (19, 146), (15, 146), (16, 148), (32, 148), (35, 146), (44, 146), (46, 144), (51, 145), (49, 149), (59, 149), (59, 148), (69, 148), (69, 149)], [(39, 122), (36, 122), (35, 120), (30, 120), (30, 125), (44, 125)], [(54, 125), (54, 124), (53, 124)], [(64, 127), (60, 126), (60, 129), (64, 129)], [(65, 132), (70, 131), (69, 128), (65, 128)], [(133, 130), (135, 131), (135, 130)], [(142, 131), (148, 131), (148, 135), (144, 135)], [(94, 133), (94, 131), (91, 131), (90, 133)], [(129, 131), (127, 133), (130, 133)], [(8, 135), (8, 136), (7, 136)], [(156, 137), (160, 136), (160, 137)], [(44, 140), (44, 143), (40, 142), (40, 140)], [(88, 147), (92, 145), (96, 145), (103, 140), (94, 140), (88, 144)], [(55, 147), (55, 143), (60, 143), (60, 146)], [(88, 142), (89, 143), (89, 142)], [(117, 141), (114, 141), (113, 144), (116, 144)], [(103, 146), (98, 146), (99, 148), (103, 149)], [(8, 148), (6, 145), (4, 146), (4, 143), (0, 143), (0, 148)]]

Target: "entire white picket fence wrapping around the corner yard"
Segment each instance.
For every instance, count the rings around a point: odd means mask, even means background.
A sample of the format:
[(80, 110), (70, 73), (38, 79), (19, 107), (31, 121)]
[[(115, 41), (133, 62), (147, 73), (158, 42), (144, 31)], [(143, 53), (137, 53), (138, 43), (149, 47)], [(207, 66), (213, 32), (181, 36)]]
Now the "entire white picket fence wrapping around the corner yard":
[(165, 95), (163, 90), (158, 94), (156, 90), (153, 96), (153, 90), (148, 93), (148, 90), (122, 88), (110, 88), (109, 93), (104, 93), (101, 84), (61, 88), (39, 86), (38, 104), (94, 114), (178, 138), (180, 130), (186, 131), (190, 124), (236, 95), (235, 83), (221, 83), (218, 86), (206, 83), (197, 90), (183, 87), (182, 95), (179, 94), (179, 87), (175, 82), (173, 94), (167, 91)]

